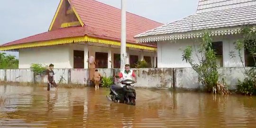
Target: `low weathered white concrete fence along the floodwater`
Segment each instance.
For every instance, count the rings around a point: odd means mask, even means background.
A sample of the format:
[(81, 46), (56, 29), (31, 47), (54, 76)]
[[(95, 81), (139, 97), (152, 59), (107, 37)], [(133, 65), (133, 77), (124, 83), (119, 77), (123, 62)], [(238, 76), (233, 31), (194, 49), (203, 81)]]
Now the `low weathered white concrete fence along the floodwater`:
[[(103, 76), (118, 75), (119, 69), (98, 69)], [(198, 74), (192, 68), (136, 68), (137, 87), (187, 88), (196, 89), (202, 86), (198, 82)], [(55, 82), (65, 84), (87, 84), (88, 69), (54, 69)], [(240, 68), (219, 68), (220, 79), (224, 78), (229, 89), (234, 90), (238, 79), (245, 76)], [(46, 82), (46, 77), (34, 76), (30, 69), (1, 69), (2, 82)]]

